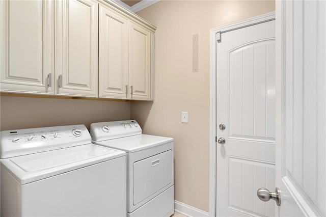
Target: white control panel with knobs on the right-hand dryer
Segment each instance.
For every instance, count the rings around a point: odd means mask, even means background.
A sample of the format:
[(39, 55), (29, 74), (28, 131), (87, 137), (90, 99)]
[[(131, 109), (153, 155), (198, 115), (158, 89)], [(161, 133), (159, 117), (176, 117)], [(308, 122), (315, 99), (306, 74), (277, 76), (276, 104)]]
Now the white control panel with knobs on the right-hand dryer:
[(135, 120), (110, 121), (91, 124), (93, 141), (104, 141), (142, 134), (142, 128)]

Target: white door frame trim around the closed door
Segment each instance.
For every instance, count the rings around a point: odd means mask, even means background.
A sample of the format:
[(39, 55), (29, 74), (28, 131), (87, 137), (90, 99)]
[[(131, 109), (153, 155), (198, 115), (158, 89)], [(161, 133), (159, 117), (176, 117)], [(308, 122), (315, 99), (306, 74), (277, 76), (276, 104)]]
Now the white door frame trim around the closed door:
[(271, 12), (210, 30), (209, 216), (216, 216), (216, 129), (218, 125), (216, 123), (216, 43), (218, 40), (223, 40), (223, 36), (220, 38), (219, 33), (230, 32), (274, 19), (275, 12)]

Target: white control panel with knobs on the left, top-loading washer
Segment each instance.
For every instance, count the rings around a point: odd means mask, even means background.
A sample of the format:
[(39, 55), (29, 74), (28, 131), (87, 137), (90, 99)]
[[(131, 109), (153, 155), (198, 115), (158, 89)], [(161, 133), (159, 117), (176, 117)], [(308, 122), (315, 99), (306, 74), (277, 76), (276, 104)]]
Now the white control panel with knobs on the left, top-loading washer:
[(92, 142), (85, 125), (1, 131), (1, 158), (33, 154)]

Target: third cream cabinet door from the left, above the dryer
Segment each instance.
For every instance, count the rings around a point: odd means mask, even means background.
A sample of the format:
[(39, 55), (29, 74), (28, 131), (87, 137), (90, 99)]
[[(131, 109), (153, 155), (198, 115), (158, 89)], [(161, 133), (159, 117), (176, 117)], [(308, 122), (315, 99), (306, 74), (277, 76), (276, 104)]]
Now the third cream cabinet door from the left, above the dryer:
[(127, 98), (128, 20), (100, 6), (99, 97)]

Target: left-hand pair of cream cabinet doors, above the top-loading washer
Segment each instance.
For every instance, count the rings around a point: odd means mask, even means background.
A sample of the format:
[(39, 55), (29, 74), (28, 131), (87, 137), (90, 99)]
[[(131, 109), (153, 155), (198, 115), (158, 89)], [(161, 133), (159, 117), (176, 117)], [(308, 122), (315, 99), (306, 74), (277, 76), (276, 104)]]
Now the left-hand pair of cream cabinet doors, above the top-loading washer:
[(2, 92), (97, 97), (98, 3), (0, 5)]

